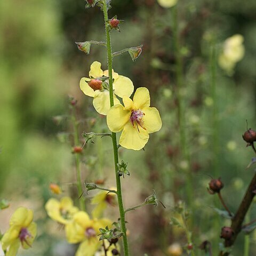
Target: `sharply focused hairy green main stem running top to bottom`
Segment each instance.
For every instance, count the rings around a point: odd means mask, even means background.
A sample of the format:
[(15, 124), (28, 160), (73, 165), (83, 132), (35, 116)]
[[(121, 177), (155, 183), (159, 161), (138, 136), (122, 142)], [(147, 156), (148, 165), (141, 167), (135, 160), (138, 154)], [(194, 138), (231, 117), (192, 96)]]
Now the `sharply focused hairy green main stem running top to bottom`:
[[(112, 56), (112, 49), (111, 49), (111, 39), (109, 33), (109, 26), (108, 26), (108, 10), (107, 10), (107, 2), (106, 0), (103, 1), (103, 14), (105, 20), (105, 30), (106, 30), (106, 41), (107, 41), (107, 54), (108, 54), (108, 76), (109, 76), (109, 100), (110, 106), (114, 106), (114, 94), (113, 94), (113, 56)], [(120, 222), (121, 222), (121, 229), (123, 232), (123, 246), (124, 246), (124, 256), (129, 256), (129, 247), (128, 241), (126, 236), (126, 226), (125, 226), (125, 212), (124, 212), (124, 205), (123, 205), (123, 198), (122, 198), (122, 188), (121, 188), (121, 180), (118, 175), (118, 149), (117, 149), (117, 142), (116, 142), (116, 133), (112, 133), (112, 142), (113, 142), (113, 151), (114, 151), (114, 163), (115, 163), (115, 173), (116, 173), (116, 189), (117, 189), (117, 199), (118, 199), (118, 206), (119, 206), (119, 213), (120, 213)]]

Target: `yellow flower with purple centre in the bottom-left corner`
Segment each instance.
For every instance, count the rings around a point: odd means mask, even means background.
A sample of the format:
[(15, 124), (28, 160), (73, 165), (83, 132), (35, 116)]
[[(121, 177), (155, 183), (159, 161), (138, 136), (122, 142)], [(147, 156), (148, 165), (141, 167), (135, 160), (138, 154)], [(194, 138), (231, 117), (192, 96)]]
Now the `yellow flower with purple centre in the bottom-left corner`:
[(6, 256), (15, 256), (20, 245), (29, 249), (36, 237), (34, 213), (25, 207), (19, 207), (10, 219), (10, 228), (2, 238), (2, 248), (7, 250)]

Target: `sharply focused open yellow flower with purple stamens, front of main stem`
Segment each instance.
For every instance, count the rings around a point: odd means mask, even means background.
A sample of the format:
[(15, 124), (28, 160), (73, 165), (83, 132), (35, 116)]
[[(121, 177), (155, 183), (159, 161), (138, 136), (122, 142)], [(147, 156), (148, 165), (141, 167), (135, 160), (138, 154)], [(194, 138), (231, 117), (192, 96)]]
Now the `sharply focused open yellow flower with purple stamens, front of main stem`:
[(133, 101), (123, 97), (124, 107), (117, 104), (108, 111), (107, 124), (112, 132), (123, 130), (119, 144), (124, 148), (140, 150), (149, 139), (149, 133), (162, 127), (156, 108), (150, 108), (149, 91), (145, 87), (136, 90)]

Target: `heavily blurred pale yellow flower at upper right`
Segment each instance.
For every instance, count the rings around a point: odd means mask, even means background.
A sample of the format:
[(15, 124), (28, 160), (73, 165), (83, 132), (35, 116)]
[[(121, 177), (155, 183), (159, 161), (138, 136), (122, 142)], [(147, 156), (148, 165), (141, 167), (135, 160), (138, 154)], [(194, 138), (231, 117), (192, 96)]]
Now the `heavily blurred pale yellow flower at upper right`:
[(219, 65), (226, 70), (229, 75), (233, 74), (236, 63), (244, 57), (244, 37), (234, 35), (226, 39), (223, 43), (223, 49), (219, 55)]

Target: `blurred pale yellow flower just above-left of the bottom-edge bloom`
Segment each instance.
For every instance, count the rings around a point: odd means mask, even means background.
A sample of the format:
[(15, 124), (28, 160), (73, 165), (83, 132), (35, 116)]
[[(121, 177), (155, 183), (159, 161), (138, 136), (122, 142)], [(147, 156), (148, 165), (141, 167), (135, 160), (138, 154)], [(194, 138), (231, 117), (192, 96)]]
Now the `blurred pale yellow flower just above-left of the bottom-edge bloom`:
[(78, 208), (73, 205), (70, 197), (62, 197), (60, 202), (55, 198), (50, 198), (45, 204), (45, 209), (50, 218), (66, 225), (78, 212)]

